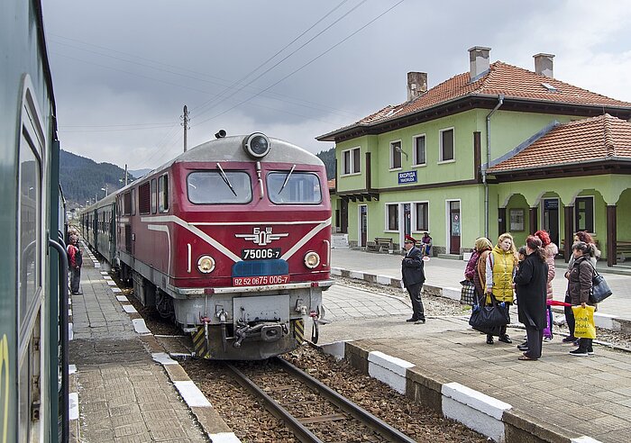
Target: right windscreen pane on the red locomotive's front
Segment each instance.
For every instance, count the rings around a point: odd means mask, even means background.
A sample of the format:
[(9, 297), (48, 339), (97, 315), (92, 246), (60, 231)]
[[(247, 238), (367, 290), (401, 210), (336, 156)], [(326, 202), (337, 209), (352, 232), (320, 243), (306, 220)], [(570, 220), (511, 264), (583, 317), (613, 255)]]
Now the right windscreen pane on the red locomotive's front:
[(311, 172), (270, 172), (267, 176), (270, 201), (279, 204), (322, 202), (320, 178)]

